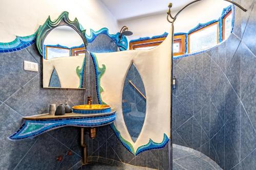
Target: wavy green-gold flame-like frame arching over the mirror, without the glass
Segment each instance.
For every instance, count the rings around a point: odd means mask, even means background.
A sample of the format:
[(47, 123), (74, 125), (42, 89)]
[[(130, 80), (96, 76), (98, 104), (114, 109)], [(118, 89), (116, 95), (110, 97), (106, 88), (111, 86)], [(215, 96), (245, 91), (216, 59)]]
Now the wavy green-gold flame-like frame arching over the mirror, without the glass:
[(51, 20), (50, 16), (48, 16), (44, 25), (41, 26), (40, 30), (37, 33), (36, 37), (36, 47), (41, 56), (43, 56), (42, 51), (44, 49), (44, 41), (47, 35), (56, 27), (59, 26), (69, 26), (73, 28), (82, 38), (84, 47), (86, 48), (88, 45), (88, 41), (86, 38), (86, 30), (83, 30), (82, 26), (78, 22), (77, 18), (73, 21), (69, 19), (69, 12), (62, 12), (57, 19), (54, 21)]

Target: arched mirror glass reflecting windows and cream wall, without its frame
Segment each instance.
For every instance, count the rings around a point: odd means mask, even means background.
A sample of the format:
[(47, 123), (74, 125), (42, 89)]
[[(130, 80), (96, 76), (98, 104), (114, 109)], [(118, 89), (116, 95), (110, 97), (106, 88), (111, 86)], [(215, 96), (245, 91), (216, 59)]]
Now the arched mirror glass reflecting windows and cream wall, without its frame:
[(46, 36), (43, 46), (43, 86), (84, 88), (85, 48), (80, 35), (70, 26), (59, 26)]

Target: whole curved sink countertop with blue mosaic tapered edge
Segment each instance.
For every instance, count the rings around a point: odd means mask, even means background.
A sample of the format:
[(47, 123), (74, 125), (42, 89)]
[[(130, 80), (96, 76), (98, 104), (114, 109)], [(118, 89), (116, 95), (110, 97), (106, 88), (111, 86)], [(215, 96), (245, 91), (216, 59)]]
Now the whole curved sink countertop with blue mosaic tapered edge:
[(65, 115), (39, 114), (23, 117), (22, 126), (12, 134), (10, 140), (22, 140), (33, 138), (47, 131), (65, 127), (76, 126), (93, 128), (113, 123), (116, 118), (116, 111), (111, 109), (109, 113), (78, 114), (67, 113)]

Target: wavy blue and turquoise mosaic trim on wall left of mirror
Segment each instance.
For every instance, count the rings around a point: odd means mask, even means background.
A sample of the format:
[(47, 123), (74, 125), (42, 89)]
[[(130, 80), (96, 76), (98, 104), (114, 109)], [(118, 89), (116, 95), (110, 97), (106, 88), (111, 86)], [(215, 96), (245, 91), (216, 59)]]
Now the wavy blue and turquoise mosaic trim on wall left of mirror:
[(15, 40), (11, 42), (0, 42), (0, 53), (16, 52), (30, 46), (35, 42), (37, 32), (40, 30), (40, 28), (41, 26), (32, 35), (24, 37), (16, 36)]

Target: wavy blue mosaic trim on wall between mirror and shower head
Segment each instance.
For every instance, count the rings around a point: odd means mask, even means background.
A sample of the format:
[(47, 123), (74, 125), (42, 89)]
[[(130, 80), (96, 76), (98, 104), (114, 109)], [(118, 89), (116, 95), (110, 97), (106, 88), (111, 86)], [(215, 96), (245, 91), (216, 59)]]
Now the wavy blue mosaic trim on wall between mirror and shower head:
[(90, 32), (91, 32), (90, 36), (86, 35), (88, 43), (91, 43), (98, 35), (105, 34), (105, 35), (108, 35), (113, 41), (115, 41), (115, 43), (119, 47), (120, 51), (125, 51), (128, 48), (128, 40), (125, 36), (122, 36), (121, 40), (119, 42), (119, 33), (110, 34), (109, 29), (107, 29), (107, 28), (102, 28), (102, 29), (100, 29), (99, 31), (96, 31), (96, 32), (93, 31), (92, 29), (90, 29)]

